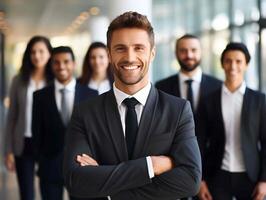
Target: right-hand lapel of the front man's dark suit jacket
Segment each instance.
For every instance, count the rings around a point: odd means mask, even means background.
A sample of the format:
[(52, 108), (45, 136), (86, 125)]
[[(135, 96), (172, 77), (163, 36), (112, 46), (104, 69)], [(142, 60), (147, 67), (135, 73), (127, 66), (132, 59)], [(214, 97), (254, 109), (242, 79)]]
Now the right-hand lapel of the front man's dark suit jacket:
[(143, 154), (145, 154), (146, 152), (148, 141), (151, 135), (150, 128), (153, 127), (152, 123), (156, 113), (157, 95), (157, 90), (152, 86), (146, 105), (142, 111), (138, 134), (132, 156), (133, 159), (139, 156), (143, 156)]

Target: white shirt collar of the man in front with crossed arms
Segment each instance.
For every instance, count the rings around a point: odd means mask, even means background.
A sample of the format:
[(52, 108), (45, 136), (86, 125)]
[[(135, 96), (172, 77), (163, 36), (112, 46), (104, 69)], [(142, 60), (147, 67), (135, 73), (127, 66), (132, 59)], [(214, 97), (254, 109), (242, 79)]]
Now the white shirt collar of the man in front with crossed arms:
[(114, 95), (115, 95), (116, 102), (117, 102), (118, 106), (120, 106), (122, 104), (124, 99), (131, 98), (131, 97), (135, 97), (140, 104), (145, 106), (146, 101), (147, 101), (148, 96), (149, 96), (149, 93), (150, 93), (150, 89), (151, 89), (151, 83), (148, 83), (144, 88), (142, 88), (141, 90), (139, 90), (135, 94), (129, 95), (129, 94), (126, 94), (123, 91), (119, 90), (115, 86), (115, 84), (113, 84)]

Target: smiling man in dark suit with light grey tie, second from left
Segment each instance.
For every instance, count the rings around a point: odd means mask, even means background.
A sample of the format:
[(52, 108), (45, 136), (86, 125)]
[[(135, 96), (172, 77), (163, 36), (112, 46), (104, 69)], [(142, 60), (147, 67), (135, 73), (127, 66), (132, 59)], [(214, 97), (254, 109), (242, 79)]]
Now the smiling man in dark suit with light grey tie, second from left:
[(63, 199), (63, 147), (73, 105), (97, 96), (97, 91), (76, 83), (74, 68), (70, 47), (53, 49), (54, 84), (34, 93), (33, 141), (43, 200)]

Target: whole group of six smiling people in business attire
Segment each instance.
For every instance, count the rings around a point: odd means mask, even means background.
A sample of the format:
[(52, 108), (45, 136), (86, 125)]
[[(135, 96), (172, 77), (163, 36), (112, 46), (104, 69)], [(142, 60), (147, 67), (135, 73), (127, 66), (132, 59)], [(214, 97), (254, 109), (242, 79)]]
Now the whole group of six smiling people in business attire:
[(141, 14), (112, 21), (107, 47), (91, 44), (77, 80), (70, 47), (32, 38), (6, 128), (21, 199), (34, 199), (37, 161), (43, 200), (62, 199), (64, 184), (70, 199), (263, 200), (266, 99), (245, 83), (249, 51), (226, 46), (223, 82), (203, 73), (201, 52), (196, 36), (178, 38), (180, 71), (154, 87), (154, 33)]

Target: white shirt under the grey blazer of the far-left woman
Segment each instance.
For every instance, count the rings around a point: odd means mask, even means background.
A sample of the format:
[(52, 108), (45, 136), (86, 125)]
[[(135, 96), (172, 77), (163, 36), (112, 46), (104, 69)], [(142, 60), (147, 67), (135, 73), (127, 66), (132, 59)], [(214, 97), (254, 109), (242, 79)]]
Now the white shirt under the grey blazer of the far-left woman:
[(33, 79), (29, 80), (27, 87), (27, 100), (26, 100), (26, 127), (24, 136), (27, 138), (32, 137), (31, 122), (32, 122), (32, 103), (33, 103), (33, 93), (36, 90), (42, 89), (45, 86), (45, 81), (40, 81), (38, 85)]

